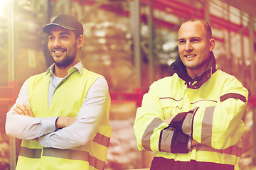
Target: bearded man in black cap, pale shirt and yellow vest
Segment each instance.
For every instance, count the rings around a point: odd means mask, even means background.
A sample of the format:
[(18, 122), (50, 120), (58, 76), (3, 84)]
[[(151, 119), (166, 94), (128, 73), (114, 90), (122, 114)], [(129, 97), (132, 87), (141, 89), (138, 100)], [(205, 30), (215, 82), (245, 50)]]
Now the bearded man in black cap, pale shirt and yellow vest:
[(6, 117), (6, 133), (22, 139), (17, 169), (104, 169), (110, 94), (79, 61), (82, 24), (61, 14), (43, 31), (54, 64), (25, 81)]

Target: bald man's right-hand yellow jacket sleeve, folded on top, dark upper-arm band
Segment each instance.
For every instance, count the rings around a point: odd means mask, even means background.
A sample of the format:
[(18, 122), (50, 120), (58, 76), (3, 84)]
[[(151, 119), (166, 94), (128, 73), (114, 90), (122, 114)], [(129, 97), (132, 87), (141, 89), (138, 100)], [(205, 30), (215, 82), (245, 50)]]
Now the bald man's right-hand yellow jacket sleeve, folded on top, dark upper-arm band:
[(225, 149), (236, 145), (246, 130), (242, 115), (247, 96), (247, 89), (235, 77), (231, 77), (225, 80), (215, 106), (202, 106), (187, 113), (178, 113), (170, 125), (208, 147)]

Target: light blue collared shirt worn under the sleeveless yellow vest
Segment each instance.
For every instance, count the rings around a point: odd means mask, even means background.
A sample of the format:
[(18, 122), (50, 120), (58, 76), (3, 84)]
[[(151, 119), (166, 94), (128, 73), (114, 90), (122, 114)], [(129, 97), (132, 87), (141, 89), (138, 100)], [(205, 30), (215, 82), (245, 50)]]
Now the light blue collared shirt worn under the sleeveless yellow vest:
[[(55, 77), (53, 67), (49, 67), (46, 74), (50, 74), (50, 84), (48, 89), (48, 106), (53, 97), (56, 87), (61, 86), (70, 74), (79, 72), (82, 74), (82, 63), (78, 62), (74, 67), (68, 70), (68, 75), (64, 78)], [(107, 103), (110, 102), (107, 81), (104, 77), (98, 78), (90, 87), (85, 101), (77, 116), (77, 120), (72, 125), (58, 129), (55, 128), (55, 121), (58, 117), (50, 118), (32, 118), (25, 115), (14, 113), (16, 104), (26, 103), (30, 106), (28, 97), (28, 79), (21, 86), (21, 90), (16, 99), (16, 103), (6, 115), (6, 133), (8, 135), (31, 140), (38, 137), (43, 147), (53, 147), (59, 149), (68, 149), (86, 145), (91, 142), (96, 135), (97, 127), (100, 125), (103, 115), (107, 109)]]

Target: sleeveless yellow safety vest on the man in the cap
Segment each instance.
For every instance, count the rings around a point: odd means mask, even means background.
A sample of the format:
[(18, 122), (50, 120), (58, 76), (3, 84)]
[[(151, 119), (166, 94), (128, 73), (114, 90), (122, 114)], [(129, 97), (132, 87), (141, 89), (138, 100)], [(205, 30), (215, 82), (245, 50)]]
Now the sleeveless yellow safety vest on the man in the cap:
[[(48, 108), (49, 74), (38, 74), (28, 81), (28, 94), (35, 117), (75, 117), (82, 106), (90, 86), (99, 74), (84, 69), (73, 72), (57, 86)], [(110, 97), (110, 96), (107, 96)], [(70, 100), (68, 100), (70, 98)], [(110, 101), (110, 100), (109, 100)], [(72, 149), (43, 148), (36, 140), (23, 140), (16, 169), (104, 169), (112, 128), (109, 120), (110, 103), (94, 140)]]

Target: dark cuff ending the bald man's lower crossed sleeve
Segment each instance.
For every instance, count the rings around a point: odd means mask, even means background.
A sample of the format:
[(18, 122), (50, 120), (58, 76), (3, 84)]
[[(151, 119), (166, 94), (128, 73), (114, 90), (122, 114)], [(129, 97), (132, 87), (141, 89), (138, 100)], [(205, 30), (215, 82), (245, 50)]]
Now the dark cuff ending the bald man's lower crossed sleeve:
[(187, 154), (188, 153), (188, 135), (183, 132), (174, 130), (174, 135), (171, 139), (171, 153)]

